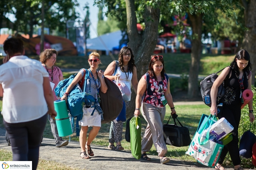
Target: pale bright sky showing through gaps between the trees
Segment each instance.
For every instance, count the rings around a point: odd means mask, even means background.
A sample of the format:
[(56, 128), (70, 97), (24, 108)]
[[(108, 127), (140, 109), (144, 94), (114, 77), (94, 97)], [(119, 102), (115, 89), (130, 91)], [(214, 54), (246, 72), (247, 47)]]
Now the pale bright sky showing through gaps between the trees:
[[(80, 15), (80, 18), (83, 20), (86, 15), (86, 10), (84, 11), (83, 8), (84, 8), (86, 2), (88, 2), (89, 12), (90, 12), (89, 19), (91, 20), (91, 23), (92, 23), (92, 25), (90, 26), (90, 37), (91, 38), (97, 37), (97, 24), (98, 24), (99, 8), (96, 5), (93, 6), (94, 0), (77, 0), (77, 2), (80, 4), (80, 7), (75, 6), (75, 9), (76, 9), (76, 12)], [(7, 15), (6, 17), (9, 18), (11, 21), (16, 20), (14, 15), (12, 15), (12, 14)], [(106, 19), (106, 17), (105, 17), (105, 19)], [(3, 34), (7, 30), (8, 30), (7, 28), (2, 28), (0, 34)]]

